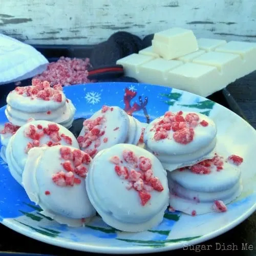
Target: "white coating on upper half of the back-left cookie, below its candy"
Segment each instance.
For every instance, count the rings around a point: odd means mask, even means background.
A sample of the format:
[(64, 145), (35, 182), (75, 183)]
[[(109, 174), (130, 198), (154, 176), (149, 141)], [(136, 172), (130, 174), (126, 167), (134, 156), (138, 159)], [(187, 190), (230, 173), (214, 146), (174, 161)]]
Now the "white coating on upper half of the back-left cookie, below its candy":
[[(31, 89), (35, 88), (31, 86)], [(65, 105), (66, 96), (62, 91), (59, 91), (59, 94), (62, 96), (61, 102), (56, 102), (51, 100), (43, 100), (40, 98), (34, 98), (33, 100), (29, 96), (24, 96), (23, 94), (18, 94), (15, 90), (11, 91), (7, 98), (6, 102), (13, 109), (28, 112), (28, 113), (37, 113), (37, 112), (46, 112), (48, 110), (57, 110), (61, 106)]]

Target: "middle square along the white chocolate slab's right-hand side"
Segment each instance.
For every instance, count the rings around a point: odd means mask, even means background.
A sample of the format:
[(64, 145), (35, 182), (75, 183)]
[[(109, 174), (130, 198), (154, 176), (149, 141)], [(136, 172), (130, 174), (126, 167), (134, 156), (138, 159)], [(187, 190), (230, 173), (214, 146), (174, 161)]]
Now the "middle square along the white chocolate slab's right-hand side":
[(216, 67), (226, 77), (227, 84), (238, 78), (242, 65), (239, 55), (224, 52), (207, 52), (195, 58), (193, 62)]

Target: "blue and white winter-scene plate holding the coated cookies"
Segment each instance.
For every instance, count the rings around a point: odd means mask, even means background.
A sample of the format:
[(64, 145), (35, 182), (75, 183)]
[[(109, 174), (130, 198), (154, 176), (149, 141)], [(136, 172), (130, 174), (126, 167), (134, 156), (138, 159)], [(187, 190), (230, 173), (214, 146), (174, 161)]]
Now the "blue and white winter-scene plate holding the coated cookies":
[[(70, 228), (40, 214), (24, 189), (11, 177), (0, 159), (0, 221), (7, 227), (49, 244), (100, 253), (143, 253), (187, 248), (228, 231), (248, 218), (256, 209), (255, 130), (242, 118), (206, 98), (180, 90), (138, 83), (92, 83), (64, 88), (76, 106), (75, 118), (90, 117), (102, 105), (118, 105), (142, 122), (150, 122), (166, 111), (193, 111), (212, 118), (219, 139), (232, 154), (244, 158), (243, 193), (228, 205), (225, 213), (191, 217), (167, 212), (163, 222), (151, 230), (121, 232), (103, 223), (100, 217), (86, 227)], [(7, 121), (0, 109), (0, 124)]]

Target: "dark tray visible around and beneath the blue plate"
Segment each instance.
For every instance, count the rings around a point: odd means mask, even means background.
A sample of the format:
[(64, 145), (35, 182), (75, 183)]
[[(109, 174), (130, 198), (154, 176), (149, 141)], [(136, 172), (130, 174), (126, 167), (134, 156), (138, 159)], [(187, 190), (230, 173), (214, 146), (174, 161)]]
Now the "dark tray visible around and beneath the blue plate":
[[(90, 57), (91, 50), (93, 46), (68, 46), (68, 45), (62, 45), (62, 46), (48, 46), (48, 45), (35, 45), (34, 46), (38, 51), (40, 51), (48, 60), (56, 61), (60, 56), (65, 57), (80, 57), (80, 58), (86, 58)], [(22, 81), (22, 83), (19, 86), (27, 86), (31, 84), (31, 79), (26, 79)], [(14, 83), (8, 83), (3, 84), (0, 86), (0, 107), (4, 106), (6, 104), (6, 97), (10, 91), (12, 91), (15, 88)], [(232, 97), (232, 95), (229, 93), (228, 89), (223, 89), (221, 91), (218, 91), (209, 97), (207, 97), (210, 100), (213, 100), (226, 108), (230, 109), (234, 113), (238, 114), (242, 118), (246, 120), (246, 117), (241, 110), (240, 106), (236, 102), (236, 100)], [(243, 242), (248, 244), (253, 244), (254, 250), (247, 250), (247, 251), (217, 251), (218, 253), (225, 252), (225, 255), (234, 255), (234, 253), (239, 253), (239, 255), (256, 255), (255, 249), (255, 228), (250, 227), (250, 223), (247, 223), (248, 220), (240, 224), (238, 227), (230, 230), (229, 232), (222, 234), (222, 236), (209, 240), (205, 242), (204, 244), (210, 246), (212, 250), (214, 250), (216, 243), (225, 243), (226, 245), (230, 245), (231, 243), (241, 245)], [(234, 231), (236, 230), (236, 231)], [(28, 238), (26, 236), (23, 236), (22, 234), (19, 234), (4, 225), (0, 224), (0, 233), (4, 234), (3, 238), (0, 241), (0, 255), (41, 255), (41, 253), (45, 253), (44, 256), (47, 255), (100, 255), (96, 253), (87, 253), (87, 252), (79, 252), (79, 251), (73, 251), (68, 250), (65, 248), (60, 248), (56, 246), (52, 246), (49, 244), (45, 244), (36, 240), (33, 240), (31, 238)], [(241, 234), (241, 235), (240, 235)], [(251, 238), (251, 241), (248, 241), (248, 237)], [(211, 250), (211, 252), (212, 252)], [(253, 252), (254, 251), (254, 252)], [(12, 253), (13, 252), (13, 253)], [(6, 254), (5, 254), (6, 253)], [(20, 253), (20, 254), (16, 254)], [(31, 253), (31, 254), (30, 254)], [(39, 253), (39, 254), (34, 254)], [(174, 252), (172, 252), (174, 253)], [(186, 255), (207, 255), (209, 251), (201, 251), (200, 253), (197, 253), (194, 251), (185, 251), (185, 250), (176, 250), (175, 253), (185, 253)], [(230, 253), (230, 254), (229, 254)], [(163, 255), (163, 253), (162, 253)]]

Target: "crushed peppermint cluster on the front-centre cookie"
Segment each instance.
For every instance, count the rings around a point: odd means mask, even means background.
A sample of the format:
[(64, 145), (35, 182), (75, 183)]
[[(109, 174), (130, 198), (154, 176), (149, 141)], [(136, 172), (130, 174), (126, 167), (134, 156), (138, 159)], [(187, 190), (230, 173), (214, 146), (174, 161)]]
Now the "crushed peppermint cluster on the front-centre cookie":
[(115, 165), (114, 170), (119, 178), (127, 181), (125, 187), (138, 192), (142, 206), (151, 199), (152, 190), (163, 191), (161, 181), (153, 175), (151, 159), (137, 157), (133, 151), (124, 150), (122, 159), (113, 156), (110, 162)]

